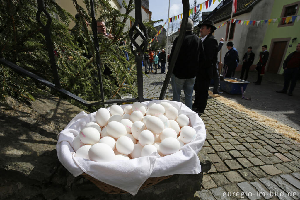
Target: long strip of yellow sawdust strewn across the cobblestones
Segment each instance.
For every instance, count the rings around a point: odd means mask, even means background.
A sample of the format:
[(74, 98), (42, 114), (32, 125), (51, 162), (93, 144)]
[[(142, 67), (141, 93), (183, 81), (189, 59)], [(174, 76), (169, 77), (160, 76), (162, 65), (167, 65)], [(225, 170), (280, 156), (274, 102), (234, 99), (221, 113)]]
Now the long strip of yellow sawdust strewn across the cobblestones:
[(221, 102), (231, 108), (234, 108), (244, 114), (247, 114), (250, 118), (252, 118), (266, 126), (269, 126), (270, 128), (276, 130), (276, 132), (279, 132), (297, 142), (300, 142), (300, 135), (298, 134), (296, 129), (293, 129), (293, 128), (291, 128), (275, 119), (272, 119), (270, 117), (266, 117), (264, 115), (258, 114), (255, 111), (250, 111), (247, 108), (245, 108), (243, 105), (238, 104), (234, 101), (231, 101), (223, 96), (214, 95), (214, 94), (212, 94), (211, 91), (208, 91), (208, 94), (209, 94), (209, 96), (217, 99), (219, 102)]

